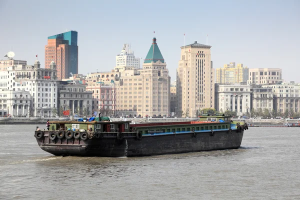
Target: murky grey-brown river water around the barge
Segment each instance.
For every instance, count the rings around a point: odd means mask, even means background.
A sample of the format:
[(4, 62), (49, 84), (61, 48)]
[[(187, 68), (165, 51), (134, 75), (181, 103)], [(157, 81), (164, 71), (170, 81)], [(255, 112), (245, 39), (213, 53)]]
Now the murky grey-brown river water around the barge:
[(0, 125), (0, 199), (300, 199), (297, 127), (249, 127), (239, 149), (120, 158), (53, 156), (35, 127)]

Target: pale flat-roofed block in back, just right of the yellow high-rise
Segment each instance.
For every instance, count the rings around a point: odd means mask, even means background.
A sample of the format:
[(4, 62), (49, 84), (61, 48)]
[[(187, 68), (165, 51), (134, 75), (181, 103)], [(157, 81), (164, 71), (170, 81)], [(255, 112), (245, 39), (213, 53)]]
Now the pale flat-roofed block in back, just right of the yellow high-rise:
[(282, 82), (280, 68), (249, 68), (248, 84), (275, 84)]

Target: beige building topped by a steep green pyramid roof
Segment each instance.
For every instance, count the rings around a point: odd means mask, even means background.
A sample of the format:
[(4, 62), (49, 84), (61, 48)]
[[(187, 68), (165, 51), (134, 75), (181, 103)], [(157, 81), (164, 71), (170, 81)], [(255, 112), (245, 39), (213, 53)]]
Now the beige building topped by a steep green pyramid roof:
[(123, 116), (163, 116), (170, 113), (170, 76), (153, 37), (142, 68), (115, 67), (116, 113)]

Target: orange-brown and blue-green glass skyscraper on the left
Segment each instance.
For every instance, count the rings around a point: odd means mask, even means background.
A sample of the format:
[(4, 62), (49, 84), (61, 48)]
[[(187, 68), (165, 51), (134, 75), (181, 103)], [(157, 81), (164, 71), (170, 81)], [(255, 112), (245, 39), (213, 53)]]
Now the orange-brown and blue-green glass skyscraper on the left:
[(48, 44), (45, 45), (45, 68), (50, 68), (51, 61), (56, 63), (59, 80), (78, 73), (77, 31), (48, 36)]

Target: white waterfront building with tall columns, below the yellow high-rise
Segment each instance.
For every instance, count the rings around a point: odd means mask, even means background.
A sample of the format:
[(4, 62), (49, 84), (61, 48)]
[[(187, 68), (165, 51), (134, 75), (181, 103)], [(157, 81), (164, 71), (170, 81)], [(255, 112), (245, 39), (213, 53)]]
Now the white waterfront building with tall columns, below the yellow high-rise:
[(215, 83), (215, 109), (236, 111), (237, 116), (250, 112), (250, 85)]

